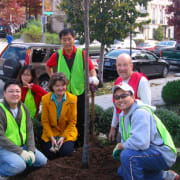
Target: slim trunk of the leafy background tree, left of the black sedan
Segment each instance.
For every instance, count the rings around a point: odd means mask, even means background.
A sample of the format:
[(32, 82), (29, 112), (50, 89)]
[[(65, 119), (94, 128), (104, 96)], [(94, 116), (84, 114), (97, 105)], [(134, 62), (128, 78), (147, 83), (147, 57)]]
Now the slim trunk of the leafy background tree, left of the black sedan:
[(99, 67), (98, 67), (98, 77), (99, 77), (99, 86), (103, 86), (103, 66), (104, 66), (104, 43), (101, 43), (101, 52), (99, 58)]

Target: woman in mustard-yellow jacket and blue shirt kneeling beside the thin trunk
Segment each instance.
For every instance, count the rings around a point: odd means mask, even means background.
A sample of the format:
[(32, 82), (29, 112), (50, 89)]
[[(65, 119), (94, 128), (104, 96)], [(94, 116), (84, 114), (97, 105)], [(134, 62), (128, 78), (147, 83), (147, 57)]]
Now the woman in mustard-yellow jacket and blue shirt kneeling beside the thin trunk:
[(64, 73), (55, 73), (42, 97), (43, 152), (49, 159), (69, 156), (77, 139), (77, 97), (67, 92)]

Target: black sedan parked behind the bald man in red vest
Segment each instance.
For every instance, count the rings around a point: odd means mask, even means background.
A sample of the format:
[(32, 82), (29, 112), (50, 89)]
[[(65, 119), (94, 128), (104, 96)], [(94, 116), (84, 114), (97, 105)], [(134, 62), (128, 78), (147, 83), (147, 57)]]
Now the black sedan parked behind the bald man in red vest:
[[(108, 52), (104, 58), (104, 76), (116, 75), (116, 59), (122, 54), (130, 54), (129, 49), (116, 49)], [(166, 77), (169, 72), (169, 64), (158, 58), (156, 55), (145, 50), (132, 50), (132, 62), (134, 71), (142, 72), (147, 77), (162, 76)]]

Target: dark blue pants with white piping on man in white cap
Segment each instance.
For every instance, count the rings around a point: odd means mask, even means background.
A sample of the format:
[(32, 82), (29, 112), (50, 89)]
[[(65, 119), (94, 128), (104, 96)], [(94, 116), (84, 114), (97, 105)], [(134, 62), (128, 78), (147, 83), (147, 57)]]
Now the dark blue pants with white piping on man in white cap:
[(152, 148), (144, 151), (125, 149), (120, 161), (118, 175), (124, 180), (162, 180), (163, 170), (168, 169), (162, 155)]

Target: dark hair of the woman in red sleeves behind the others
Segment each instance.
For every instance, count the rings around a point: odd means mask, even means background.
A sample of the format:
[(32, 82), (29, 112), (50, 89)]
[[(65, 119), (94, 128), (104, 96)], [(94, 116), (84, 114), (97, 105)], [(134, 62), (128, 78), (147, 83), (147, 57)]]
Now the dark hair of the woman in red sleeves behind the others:
[(31, 73), (31, 76), (32, 76), (32, 80), (30, 83), (36, 83), (37, 84), (37, 77), (36, 77), (36, 71), (35, 69), (31, 66), (31, 65), (25, 65), (21, 68), (20, 72), (19, 72), (19, 75), (17, 77), (18, 81), (21, 83), (21, 85), (23, 84), (22, 82), (22, 74), (24, 74), (24, 71), (25, 70), (29, 70), (30, 73)]

